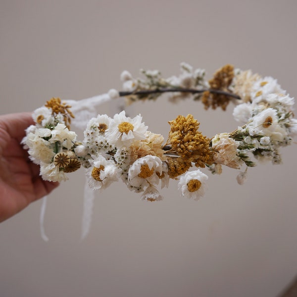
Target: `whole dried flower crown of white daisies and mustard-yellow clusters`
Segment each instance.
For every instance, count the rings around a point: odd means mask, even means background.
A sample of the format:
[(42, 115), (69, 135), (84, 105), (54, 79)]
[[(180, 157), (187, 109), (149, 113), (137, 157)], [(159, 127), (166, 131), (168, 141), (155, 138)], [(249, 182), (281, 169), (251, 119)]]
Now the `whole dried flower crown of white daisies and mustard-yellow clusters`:
[[(121, 179), (148, 201), (161, 200), (158, 185), (168, 187), (170, 178), (179, 180), (182, 196), (198, 199), (204, 195), (208, 179), (195, 167), (207, 167), (221, 174), (222, 165), (244, 170), (237, 181), (243, 184), (247, 167), (257, 160), (281, 163), (280, 147), (290, 145), (297, 134), (293, 117), (294, 99), (282, 90), (277, 80), (261, 77), (250, 70), (226, 65), (206, 81), (205, 71), (182, 63), (181, 74), (168, 79), (159, 71), (144, 71), (144, 79), (134, 79), (128, 71), (121, 74), (123, 91), (81, 101), (52, 98), (33, 113), (35, 125), (26, 130), (22, 144), (30, 159), (40, 165), (44, 180), (65, 181), (67, 174), (81, 166), (86, 169), (88, 185), (102, 190)], [(84, 139), (70, 130), (71, 120), (86, 123), (86, 108), (125, 97), (130, 104), (156, 99), (167, 93), (171, 101), (192, 97), (201, 100), (205, 109), (226, 109), (236, 104), (233, 115), (240, 123), (231, 133), (208, 138), (199, 131), (199, 122), (189, 114), (169, 121), (168, 139), (148, 131), (141, 115), (126, 116), (125, 111), (110, 118), (106, 114), (88, 118)], [(70, 109), (71, 108), (71, 109)], [(76, 118), (74, 116), (76, 115)], [(77, 124), (77, 126), (79, 126)], [(251, 156), (254, 156), (251, 159)]]

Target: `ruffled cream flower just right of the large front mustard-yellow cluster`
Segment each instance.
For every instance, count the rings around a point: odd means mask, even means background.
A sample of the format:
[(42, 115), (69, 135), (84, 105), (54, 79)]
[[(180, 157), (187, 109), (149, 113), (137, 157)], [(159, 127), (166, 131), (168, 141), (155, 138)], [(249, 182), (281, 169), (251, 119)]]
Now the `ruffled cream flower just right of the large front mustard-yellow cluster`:
[(239, 144), (228, 133), (217, 134), (212, 139), (213, 160), (216, 163), (238, 169), (241, 163), (237, 156)]

